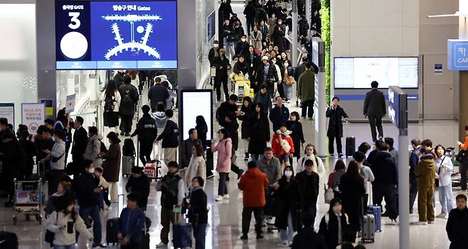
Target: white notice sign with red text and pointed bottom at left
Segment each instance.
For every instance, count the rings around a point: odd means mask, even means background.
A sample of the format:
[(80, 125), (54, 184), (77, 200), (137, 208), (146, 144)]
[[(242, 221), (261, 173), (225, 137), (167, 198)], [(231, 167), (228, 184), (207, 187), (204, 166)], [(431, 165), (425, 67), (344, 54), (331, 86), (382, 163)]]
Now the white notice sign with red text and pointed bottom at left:
[(22, 103), (21, 104), (21, 123), (28, 126), (31, 134), (38, 131), (38, 127), (44, 123), (46, 114), (46, 105), (43, 103)]

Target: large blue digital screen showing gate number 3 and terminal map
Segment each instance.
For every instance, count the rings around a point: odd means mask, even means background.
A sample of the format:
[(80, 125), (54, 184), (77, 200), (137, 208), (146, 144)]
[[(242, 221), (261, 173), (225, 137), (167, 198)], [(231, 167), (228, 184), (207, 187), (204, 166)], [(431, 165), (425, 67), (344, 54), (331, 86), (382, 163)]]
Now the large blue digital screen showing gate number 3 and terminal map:
[(177, 2), (55, 1), (58, 70), (176, 69)]

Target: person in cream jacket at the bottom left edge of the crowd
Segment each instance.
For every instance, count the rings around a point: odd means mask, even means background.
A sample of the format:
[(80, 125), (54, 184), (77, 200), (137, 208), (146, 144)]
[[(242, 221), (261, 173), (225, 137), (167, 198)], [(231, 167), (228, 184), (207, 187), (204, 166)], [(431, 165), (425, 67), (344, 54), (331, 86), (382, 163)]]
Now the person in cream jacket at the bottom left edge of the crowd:
[(75, 198), (64, 198), (63, 203), (57, 206), (57, 211), (53, 211), (46, 221), (46, 229), (54, 233), (53, 248), (76, 248), (77, 232), (92, 242), (92, 234), (86, 228), (83, 218), (75, 211)]

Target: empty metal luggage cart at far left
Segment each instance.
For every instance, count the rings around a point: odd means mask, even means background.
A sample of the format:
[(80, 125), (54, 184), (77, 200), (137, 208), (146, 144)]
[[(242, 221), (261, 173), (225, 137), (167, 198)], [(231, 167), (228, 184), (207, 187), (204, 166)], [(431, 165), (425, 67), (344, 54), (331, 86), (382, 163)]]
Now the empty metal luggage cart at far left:
[[(13, 205), (14, 211), (26, 216), (26, 221), (34, 216), (40, 225), (42, 224), (41, 206), (43, 199), (41, 181), (41, 178), (28, 181), (14, 179), (15, 196)], [(17, 221), (18, 217), (14, 214), (13, 223), (15, 226)]]

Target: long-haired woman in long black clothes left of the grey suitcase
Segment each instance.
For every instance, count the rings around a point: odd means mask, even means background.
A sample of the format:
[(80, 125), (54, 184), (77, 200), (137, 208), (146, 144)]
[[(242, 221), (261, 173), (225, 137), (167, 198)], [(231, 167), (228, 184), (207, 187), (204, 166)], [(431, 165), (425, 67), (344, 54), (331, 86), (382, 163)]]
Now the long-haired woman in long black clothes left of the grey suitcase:
[(361, 231), (361, 210), (363, 210), (363, 197), (366, 194), (364, 179), (359, 173), (356, 161), (349, 162), (348, 170), (341, 176), (339, 189), (343, 198), (344, 211), (349, 216), (353, 233), (356, 234)]

